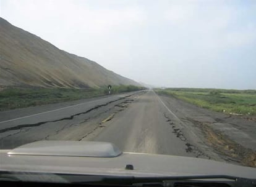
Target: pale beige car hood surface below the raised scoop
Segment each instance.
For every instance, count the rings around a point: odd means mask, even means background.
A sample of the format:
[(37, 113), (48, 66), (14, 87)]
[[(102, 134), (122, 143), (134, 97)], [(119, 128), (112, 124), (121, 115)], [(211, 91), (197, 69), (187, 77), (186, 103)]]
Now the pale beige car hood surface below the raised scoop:
[[(37, 149), (40, 150), (40, 146), (39, 148), (37, 147)], [(69, 149), (72, 150), (71, 145), (69, 145)], [(29, 152), (28, 149), (26, 151)], [(55, 152), (58, 151), (55, 150)], [(72, 154), (60, 156), (60, 154), (51, 155), (49, 153), (48, 155), (10, 153), (15, 153), (15, 149), (0, 151), (1, 171), (127, 177), (230, 175), (234, 177), (256, 178), (255, 168), (194, 157), (127, 152), (119, 153), (119, 151), (117, 151), (118, 154), (114, 156), (111, 154), (109, 157), (93, 157), (92, 155), (76, 156)], [(133, 165), (134, 169), (127, 170), (126, 165)]]

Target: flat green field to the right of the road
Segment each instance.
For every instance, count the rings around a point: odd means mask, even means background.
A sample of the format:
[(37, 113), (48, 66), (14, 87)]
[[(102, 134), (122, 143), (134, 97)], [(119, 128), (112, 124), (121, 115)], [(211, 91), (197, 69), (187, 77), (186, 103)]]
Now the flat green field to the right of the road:
[(155, 89), (158, 94), (171, 95), (201, 108), (224, 113), (255, 115), (256, 90), (225, 89)]

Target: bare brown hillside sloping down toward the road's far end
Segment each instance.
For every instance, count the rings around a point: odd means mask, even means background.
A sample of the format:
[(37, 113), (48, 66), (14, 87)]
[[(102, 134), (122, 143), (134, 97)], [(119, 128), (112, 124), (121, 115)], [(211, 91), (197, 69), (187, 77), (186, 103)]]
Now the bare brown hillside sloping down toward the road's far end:
[(103, 66), (60, 50), (0, 18), (1, 87), (100, 87), (132, 84)]

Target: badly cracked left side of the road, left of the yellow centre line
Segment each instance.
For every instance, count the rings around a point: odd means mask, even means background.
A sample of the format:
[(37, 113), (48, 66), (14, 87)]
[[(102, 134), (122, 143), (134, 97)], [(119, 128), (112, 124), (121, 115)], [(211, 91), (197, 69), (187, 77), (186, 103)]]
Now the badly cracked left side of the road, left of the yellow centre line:
[(1, 112), (0, 148), (12, 149), (37, 140), (80, 140), (115, 105), (143, 92)]

